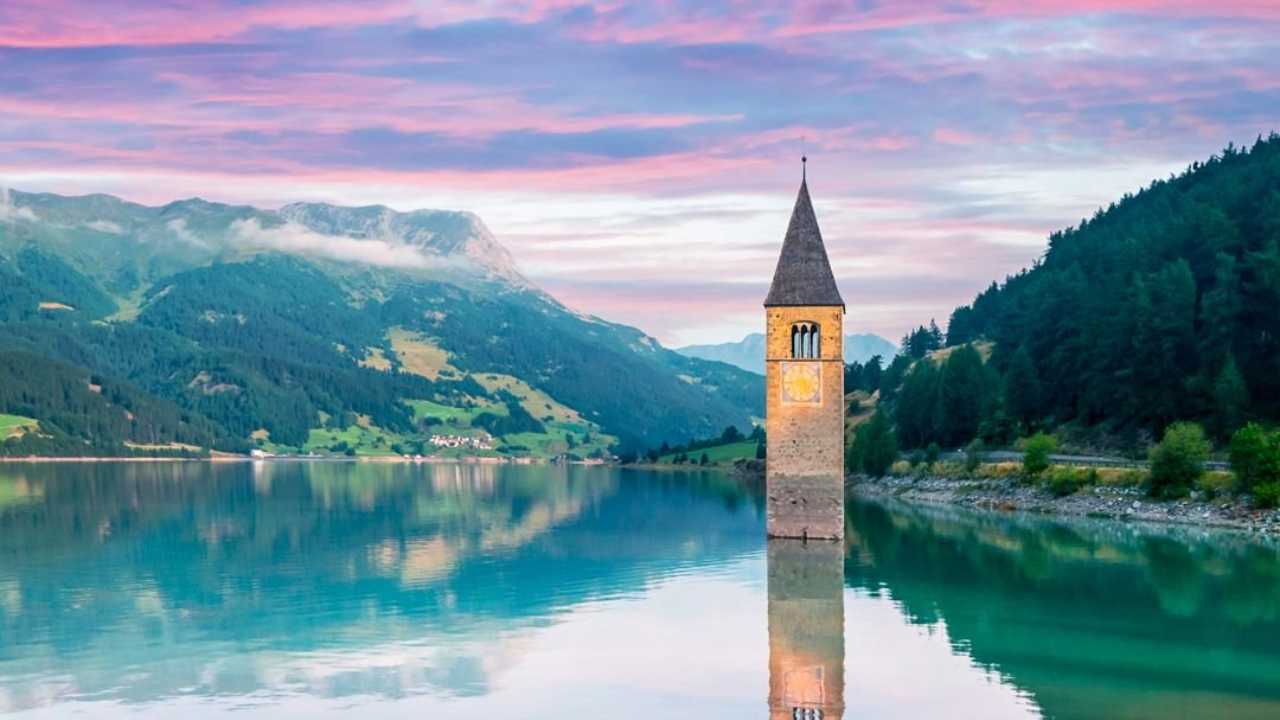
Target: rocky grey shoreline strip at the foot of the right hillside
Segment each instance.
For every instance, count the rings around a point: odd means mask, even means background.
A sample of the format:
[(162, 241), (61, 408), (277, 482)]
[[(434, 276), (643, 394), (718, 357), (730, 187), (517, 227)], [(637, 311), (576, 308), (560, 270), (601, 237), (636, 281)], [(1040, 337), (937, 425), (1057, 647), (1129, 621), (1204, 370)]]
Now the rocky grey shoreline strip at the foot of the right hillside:
[(1074, 495), (1053, 497), (1042, 487), (1012, 478), (850, 475), (845, 483), (849, 492), (865, 497), (887, 496), (910, 502), (957, 505), (998, 512), (1175, 523), (1280, 536), (1280, 510), (1258, 510), (1234, 497), (1206, 500), (1192, 493), (1183, 500), (1158, 501), (1147, 497), (1140, 488), (1117, 486), (1085, 487)]

